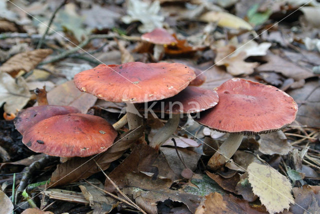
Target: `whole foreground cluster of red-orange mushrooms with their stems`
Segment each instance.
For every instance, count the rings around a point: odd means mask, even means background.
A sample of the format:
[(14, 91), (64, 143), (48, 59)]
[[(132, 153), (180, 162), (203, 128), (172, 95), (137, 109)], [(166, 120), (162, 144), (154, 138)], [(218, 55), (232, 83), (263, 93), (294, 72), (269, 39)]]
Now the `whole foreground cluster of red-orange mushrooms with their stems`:
[[(166, 124), (149, 142), (156, 149), (174, 133), (182, 113), (199, 112), (195, 121), (230, 133), (210, 159), (217, 167), (234, 154), (244, 134), (276, 131), (295, 118), (297, 104), (274, 86), (232, 78), (207, 90), (195, 86), (201, 83), (194, 69), (167, 62), (100, 64), (74, 76), (79, 90), (107, 101), (125, 102), (129, 129), (144, 125), (145, 109), (138, 103), (169, 114)], [(28, 148), (60, 157), (103, 152), (117, 136), (105, 119), (79, 113), (70, 106), (29, 107), (18, 113), (14, 123)]]

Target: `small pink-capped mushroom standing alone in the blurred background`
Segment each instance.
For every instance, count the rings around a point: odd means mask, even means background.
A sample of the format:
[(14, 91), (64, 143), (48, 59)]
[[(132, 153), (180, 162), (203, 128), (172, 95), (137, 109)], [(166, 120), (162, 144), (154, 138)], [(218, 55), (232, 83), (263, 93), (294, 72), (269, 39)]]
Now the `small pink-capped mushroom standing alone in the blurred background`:
[(164, 53), (164, 45), (174, 44), (177, 42), (174, 36), (163, 28), (155, 28), (151, 32), (144, 33), (141, 35), (141, 39), (154, 44), (153, 58), (156, 61), (161, 59)]

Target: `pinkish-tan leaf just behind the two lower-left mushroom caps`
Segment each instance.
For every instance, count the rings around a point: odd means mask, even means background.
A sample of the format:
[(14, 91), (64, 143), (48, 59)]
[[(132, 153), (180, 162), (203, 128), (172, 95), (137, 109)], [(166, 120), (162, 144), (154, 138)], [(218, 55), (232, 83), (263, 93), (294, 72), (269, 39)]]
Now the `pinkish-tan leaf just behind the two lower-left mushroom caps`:
[(69, 105), (76, 107), (82, 113), (94, 105), (96, 97), (79, 91), (72, 80), (64, 82), (47, 92), (48, 103), (51, 105)]

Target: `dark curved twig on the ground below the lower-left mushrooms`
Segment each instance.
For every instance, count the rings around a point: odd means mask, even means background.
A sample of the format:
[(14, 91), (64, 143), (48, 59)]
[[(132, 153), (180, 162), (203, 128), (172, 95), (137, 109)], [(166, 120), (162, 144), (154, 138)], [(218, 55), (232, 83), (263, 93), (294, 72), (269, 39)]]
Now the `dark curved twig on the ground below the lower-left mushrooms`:
[(36, 170), (43, 168), (48, 163), (51, 164), (56, 159), (58, 159), (58, 157), (45, 155), (45, 156), (41, 157), (40, 159), (38, 159), (37, 161), (34, 161), (33, 163), (31, 163), (28, 167), (25, 167), (22, 171), (23, 175), (20, 180), (20, 185), (16, 190), (18, 192), (22, 192), (23, 189), (27, 186), (32, 174)]

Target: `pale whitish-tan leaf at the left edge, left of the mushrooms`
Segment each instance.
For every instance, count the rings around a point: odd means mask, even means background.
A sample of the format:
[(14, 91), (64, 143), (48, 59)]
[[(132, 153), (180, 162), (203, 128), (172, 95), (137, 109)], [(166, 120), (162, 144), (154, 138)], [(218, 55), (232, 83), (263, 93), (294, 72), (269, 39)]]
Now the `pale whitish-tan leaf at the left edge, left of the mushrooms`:
[(16, 113), (30, 99), (30, 92), (25, 80), (19, 76), (16, 81), (8, 73), (0, 72), (0, 106), (6, 113)]

